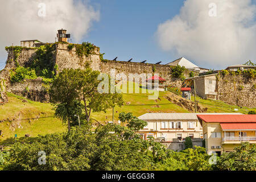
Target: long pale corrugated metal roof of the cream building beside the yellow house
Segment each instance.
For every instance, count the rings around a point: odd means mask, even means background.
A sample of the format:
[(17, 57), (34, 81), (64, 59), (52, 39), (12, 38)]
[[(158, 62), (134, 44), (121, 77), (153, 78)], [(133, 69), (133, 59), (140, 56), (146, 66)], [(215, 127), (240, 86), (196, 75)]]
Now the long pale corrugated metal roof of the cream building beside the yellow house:
[(146, 113), (140, 115), (138, 118), (142, 120), (197, 120), (197, 114), (200, 115), (213, 115), (213, 114), (241, 114), (241, 113)]

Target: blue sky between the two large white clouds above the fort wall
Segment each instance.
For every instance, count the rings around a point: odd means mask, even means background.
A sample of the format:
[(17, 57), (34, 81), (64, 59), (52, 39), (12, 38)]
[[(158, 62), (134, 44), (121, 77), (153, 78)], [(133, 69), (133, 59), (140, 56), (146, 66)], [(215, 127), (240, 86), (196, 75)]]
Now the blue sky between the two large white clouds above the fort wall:
[(100, 5), (100, 21), (94, 22), (85, 42), (92, 42), (105, 53), (105, 59), (127, 61), (148, 60), (148, 63), (168, 63), (178, 57), (162, 51), (156, 41), (158, 24), (179, 13), (181, 0), (117, 1), (96, 0)]

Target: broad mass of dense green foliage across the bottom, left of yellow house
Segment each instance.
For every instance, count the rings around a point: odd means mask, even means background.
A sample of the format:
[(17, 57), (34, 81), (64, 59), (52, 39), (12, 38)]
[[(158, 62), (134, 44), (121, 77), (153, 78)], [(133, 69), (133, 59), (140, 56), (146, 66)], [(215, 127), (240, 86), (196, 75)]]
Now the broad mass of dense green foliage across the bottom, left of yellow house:
[[(127, 116), (129, 116), (128, 114)], [(5, 170), (208, 170), (209, 155), (196, 147), (183, 152), (167, 150), (153, 140), (142, 140), (129, 131), (144, 123), (132, 115), (127, 127), (116, 124), (72, 127), (61, 134), (24, 139), (11, 147), (2, 167)], [(125, 135), (124, 135), (125, 134)], [(46, 164), (39, 165), (39, 151), (46, 153)], [(4, 159), (3, 159), (4, 160)]]

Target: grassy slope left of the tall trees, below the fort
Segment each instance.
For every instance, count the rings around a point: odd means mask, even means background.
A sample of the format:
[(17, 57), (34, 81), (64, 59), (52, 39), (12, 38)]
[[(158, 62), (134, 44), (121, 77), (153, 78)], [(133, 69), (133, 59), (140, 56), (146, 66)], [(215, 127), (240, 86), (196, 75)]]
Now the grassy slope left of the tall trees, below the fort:
[(0, 144), (11, 142), (15, 134), (18, 138), (25, 134), (36, 137), (67, 129), (59, 119), (53, 118), (51, 104), (25, 100), (11, 93), (8, 96), (9, 102), (0, 106), (0, 130), (4, 136), (0, 137)]

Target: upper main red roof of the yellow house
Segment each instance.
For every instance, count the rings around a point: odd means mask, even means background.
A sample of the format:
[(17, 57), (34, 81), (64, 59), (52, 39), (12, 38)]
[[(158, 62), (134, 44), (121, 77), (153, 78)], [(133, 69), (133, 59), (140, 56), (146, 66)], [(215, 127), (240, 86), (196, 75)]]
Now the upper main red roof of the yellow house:
[(241, 114), (241, 115), (200, 115), (197, 118), (204, 122), (210, 123), (256, 123), (256, 114)]

